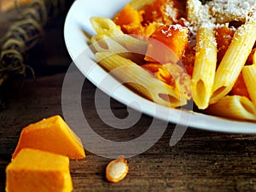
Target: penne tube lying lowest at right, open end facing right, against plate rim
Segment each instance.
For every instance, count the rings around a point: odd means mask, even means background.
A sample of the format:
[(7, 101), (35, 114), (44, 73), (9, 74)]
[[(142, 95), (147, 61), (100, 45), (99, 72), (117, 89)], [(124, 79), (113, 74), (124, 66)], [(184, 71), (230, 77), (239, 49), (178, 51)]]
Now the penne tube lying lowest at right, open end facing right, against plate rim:
[(231, 119), (256, 121), (256, 108), (245, 96), (224, 96), (210, 105), (206, 112)]

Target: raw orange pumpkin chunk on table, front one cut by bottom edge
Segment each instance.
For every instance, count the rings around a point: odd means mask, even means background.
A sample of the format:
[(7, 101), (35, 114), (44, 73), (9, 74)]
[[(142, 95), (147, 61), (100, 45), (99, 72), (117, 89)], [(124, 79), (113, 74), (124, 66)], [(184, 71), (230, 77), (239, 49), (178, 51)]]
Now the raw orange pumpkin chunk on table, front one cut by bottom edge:
[(7, 192), (70, 192), (69, 159), (61, 154), (23, 148), (6, 168)]

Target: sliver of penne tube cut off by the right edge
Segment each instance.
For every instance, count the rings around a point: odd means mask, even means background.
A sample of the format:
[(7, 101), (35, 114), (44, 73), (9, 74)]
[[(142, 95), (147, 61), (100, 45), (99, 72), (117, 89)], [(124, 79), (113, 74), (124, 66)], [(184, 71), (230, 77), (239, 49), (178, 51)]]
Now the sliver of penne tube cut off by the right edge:
[[(255, 53), (254, 53), (255, 55)], [(246, 84), (248, 94), (256, 107), (256, 65), (245, 66), (242, 68), (242, 77)]]

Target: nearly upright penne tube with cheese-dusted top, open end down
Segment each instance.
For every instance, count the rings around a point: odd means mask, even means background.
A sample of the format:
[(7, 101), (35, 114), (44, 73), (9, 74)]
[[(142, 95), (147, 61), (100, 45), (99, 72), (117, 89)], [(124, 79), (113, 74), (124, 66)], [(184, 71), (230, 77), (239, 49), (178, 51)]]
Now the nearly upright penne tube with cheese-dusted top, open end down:
[(198, 108), (208, 107), (212, 96), (217, 64), (217, 43), (214, 32), (203, 27), (197, 32), (195, 66), (192, 76), (193, 100)]

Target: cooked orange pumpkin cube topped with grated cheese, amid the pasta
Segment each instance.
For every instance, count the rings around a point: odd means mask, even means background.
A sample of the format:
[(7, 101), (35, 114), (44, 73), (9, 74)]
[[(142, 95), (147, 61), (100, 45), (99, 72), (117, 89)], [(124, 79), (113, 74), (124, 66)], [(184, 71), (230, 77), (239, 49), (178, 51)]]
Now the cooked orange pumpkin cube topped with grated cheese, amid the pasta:
[(148, 39), (146, 61), (177, 62), (189, 44), (189, 30), (179, 24), (160, 26)]

